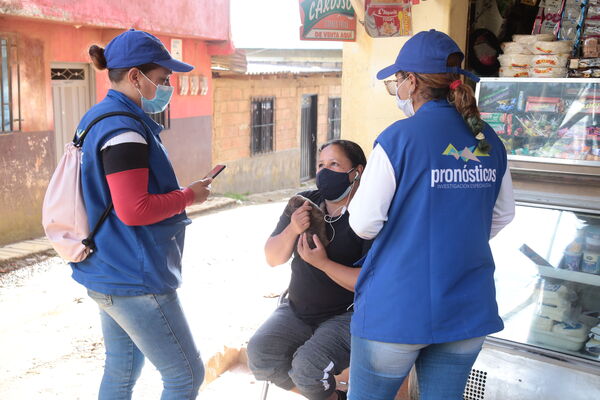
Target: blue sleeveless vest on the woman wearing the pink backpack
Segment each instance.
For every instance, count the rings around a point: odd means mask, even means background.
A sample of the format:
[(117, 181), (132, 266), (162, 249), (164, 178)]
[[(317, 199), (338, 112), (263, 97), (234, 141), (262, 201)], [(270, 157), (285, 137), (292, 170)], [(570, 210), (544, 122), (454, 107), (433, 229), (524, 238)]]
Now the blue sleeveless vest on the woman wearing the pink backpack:
[[(125, 116), (108, 117), (98, 122), (83, 143), (82, 191), (88, 219), (94, 226), (111, 201), (100, 149), (110, 138), (128, 131), (141, 134), (148, 143), (149, 182), (152, 194), (180, 189), (159, 133), (162, 127), (148, 117), (124, 94), (109, 90), (79, 123), (78, 132), (96, 117), (126, 111), (145, 123)], [(190, 224), (185, 212), (146, 226), (122, 223), (114, 210), (100, 227), (94, 240), (97, 250), (80, 263), (71, 263), (73, 278), (86, 288), (110, 295), (137, 296), (162, 294), (181, 283), (181, 255), (185, 227)]]

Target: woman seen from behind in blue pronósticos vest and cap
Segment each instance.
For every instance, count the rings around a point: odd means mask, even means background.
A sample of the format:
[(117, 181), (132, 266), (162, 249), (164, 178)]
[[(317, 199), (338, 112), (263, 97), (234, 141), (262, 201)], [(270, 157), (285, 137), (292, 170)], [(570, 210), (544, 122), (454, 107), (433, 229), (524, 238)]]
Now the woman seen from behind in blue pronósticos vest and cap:
[[(377, 78), (408, 117), (385, 129), (350, 205), (375, 239), (355, 290), (352, 400), (390, 400), (413, 364), (421, 400), (463, 398), (486, 335), (503, 328), (488, 241), (514, 216), (506, 151), (446, 34), (420, 32)], [(389, 82), (388, 82), (389, 84)]]

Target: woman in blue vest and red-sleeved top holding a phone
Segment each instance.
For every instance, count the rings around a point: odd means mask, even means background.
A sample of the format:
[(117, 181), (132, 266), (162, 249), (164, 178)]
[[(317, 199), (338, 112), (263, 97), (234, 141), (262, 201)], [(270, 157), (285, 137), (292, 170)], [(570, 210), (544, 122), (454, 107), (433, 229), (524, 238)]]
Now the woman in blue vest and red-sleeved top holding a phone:
[(203, 202), (210, 180), (182, 189), (159, 138), (162, 126), (147, 113), (163, 111), (174, 60), (154, 36), (129, 30), (102, 49), (90, 48), (111, 89), (82, 118), (82, 191), (91, 224), (114, 210), (94, 237), (96, 250), (72, 263), (73, 278), (100, 308), (106, 362), (100, 400), (131, 399), (147, 357), (162, 376), (161, 399), (195, 399), (204, 378), (200, 354), (179, 303), (185, 207)]

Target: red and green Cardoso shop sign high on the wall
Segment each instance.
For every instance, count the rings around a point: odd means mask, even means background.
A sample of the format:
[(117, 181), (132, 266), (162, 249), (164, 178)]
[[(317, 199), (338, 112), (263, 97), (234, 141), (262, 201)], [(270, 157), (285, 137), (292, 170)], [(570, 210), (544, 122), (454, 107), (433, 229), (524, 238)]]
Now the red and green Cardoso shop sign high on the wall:
[(350, 0), (300, 0), (300, 17), (302, 40), (356, 40), (356, 16)]

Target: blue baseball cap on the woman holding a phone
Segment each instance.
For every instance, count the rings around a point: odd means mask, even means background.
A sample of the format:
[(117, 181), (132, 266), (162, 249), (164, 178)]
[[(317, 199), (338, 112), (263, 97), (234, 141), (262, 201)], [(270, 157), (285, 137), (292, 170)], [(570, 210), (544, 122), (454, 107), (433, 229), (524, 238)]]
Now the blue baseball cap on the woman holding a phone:
[(104, 49), (106, 67), (131, 68), (143, 64), (158, 64), (175, 72), (189, 72), (194, 69), (171, 57), (164, 44), (154, 35), (130, 29), (115, 37)]

